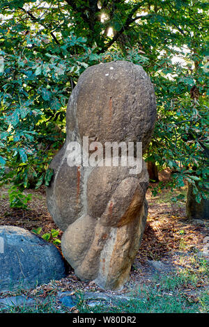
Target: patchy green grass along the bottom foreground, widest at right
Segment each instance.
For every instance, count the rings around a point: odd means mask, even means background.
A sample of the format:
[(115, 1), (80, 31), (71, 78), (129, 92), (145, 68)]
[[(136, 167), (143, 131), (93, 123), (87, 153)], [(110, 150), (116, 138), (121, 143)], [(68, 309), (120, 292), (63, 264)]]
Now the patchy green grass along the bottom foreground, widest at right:
[[(112, 298), (110, 303), (95, 301), (91, 305), (84, 299), (81, 290), (77, 292), (77, 313), (206, 313), (209, 312), (209, 294), (203, 289), (207, 282), (209, 264), (194, 255), (187, 269), (167, 275), (156, 275), (149, 285), (143, 285), (130, 292), (130, 300)], [(201, 288), (199, 289), (200, 282)], [(188, 292), (189, 291), (189, 292)], [(127, 295), (127, 294), (126, 294)], [(10, 305), (0, 312), (10, 313), (63, 313), (70, 312), (59, 303), (56, 289), (45, 299), (35, 298), (32, 305)], [(73, 312), (73, 310), (72, 310)]]

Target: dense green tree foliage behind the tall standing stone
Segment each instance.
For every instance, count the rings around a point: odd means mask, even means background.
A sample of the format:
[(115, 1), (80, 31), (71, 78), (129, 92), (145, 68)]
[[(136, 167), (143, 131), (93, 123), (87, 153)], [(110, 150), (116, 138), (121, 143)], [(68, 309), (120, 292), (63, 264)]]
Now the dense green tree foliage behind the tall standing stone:
[(143, 65), (155, 86), (146, 159), (173, 169), (173, 187), (187, 180), (197, 201), (206, 197), (207, 1), (0, 0), (0, 10), (1, 182), (49, 184), (79, 74), (125, 59)]

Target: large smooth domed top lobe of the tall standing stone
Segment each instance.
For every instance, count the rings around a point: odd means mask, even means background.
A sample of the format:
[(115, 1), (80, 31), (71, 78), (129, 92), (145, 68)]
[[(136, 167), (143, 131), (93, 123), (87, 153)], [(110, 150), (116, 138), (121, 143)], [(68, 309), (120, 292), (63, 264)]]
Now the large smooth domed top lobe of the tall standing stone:
[(141, 141), (146, 150), (155, 107), (153, 86), (141, 66), (114, 61), (88, 67), (69, 100), (69, 136), (89, 136), (102, 144)]

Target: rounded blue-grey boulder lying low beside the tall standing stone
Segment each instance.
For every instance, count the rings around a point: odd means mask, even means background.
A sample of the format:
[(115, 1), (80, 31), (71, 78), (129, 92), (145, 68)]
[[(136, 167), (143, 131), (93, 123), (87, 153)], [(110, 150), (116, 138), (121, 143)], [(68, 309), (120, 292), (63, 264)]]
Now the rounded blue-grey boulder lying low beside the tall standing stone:
[(0, 291), (30, 288), (65, 276), (59, 250), (36, 234), (0, 226)]

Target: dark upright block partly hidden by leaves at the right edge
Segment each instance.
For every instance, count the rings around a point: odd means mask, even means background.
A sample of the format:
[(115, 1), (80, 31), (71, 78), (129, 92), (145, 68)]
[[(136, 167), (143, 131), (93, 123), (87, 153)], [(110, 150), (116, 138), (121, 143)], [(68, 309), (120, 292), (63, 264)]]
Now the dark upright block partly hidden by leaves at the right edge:
[(193, 186), (189, 184), (186, 204), (187, 218), (209, 219), (209, 200), (202, 198), (200, 203), (196, 202), (195, 194), (193, 194), (192, 191)]

